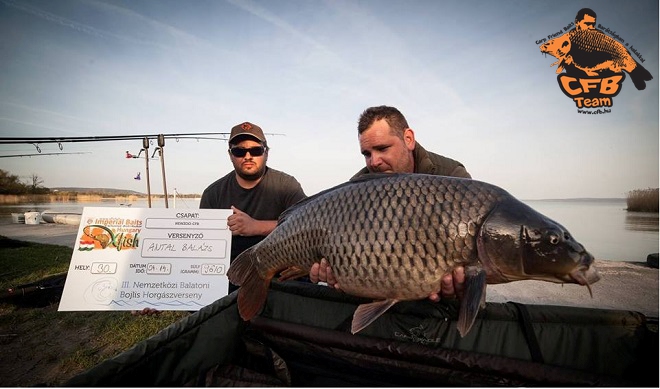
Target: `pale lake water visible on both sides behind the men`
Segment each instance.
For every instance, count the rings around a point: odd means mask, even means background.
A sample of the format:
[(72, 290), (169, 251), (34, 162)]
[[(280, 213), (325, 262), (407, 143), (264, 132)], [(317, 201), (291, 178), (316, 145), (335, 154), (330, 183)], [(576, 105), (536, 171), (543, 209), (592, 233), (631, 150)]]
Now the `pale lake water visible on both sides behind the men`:
[[(528, 200), (530, 207), (562, 224), (596, 259), (645, 262), (658, 250), (658, 214), (627, 212), (625, 199), (616, 200)], [(146, 200), (131, 202), (131, 207), (147, 208)], [(170, 208), (197, 209), (199, 199), (169, 200)], [(11, 223), (12, 213), (81, 213), (83, 207), (123, 207), (115, 200), (96, 203), (40, 203), (0, 205), (0, 222)], [(152, 208), (165, 208), (164, 199), (152, 200)]]

